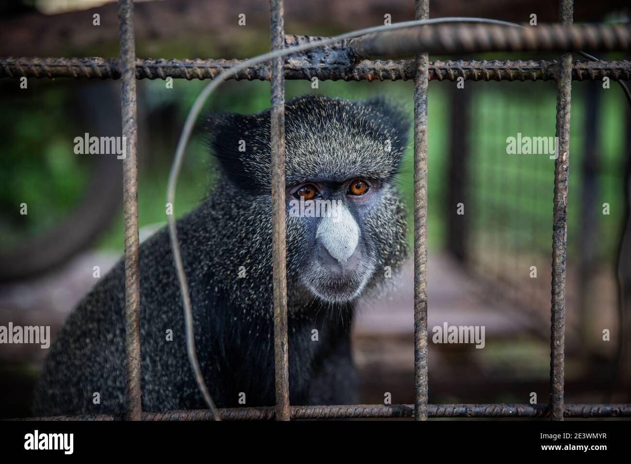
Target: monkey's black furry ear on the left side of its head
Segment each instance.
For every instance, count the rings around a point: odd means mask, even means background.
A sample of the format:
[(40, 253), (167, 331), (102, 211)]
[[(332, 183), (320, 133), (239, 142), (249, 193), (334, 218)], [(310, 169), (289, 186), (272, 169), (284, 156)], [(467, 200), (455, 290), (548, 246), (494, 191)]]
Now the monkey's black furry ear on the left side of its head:
[(242, 189), (266, 187), (269, 170), (269, 110), (254, 115), (209, 113), (201, 130), (221, 171)]

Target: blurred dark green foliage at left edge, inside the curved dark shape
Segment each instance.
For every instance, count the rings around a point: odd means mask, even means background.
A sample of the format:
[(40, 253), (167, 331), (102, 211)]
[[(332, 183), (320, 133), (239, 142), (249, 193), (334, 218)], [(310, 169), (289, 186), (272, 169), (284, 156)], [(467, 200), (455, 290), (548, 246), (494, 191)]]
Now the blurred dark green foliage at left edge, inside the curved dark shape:
[[(11, 82), (16, 89), (19, 81)], [(64, 114), (65, 88), (46, 86), (36, 99), (20, 90), (3, 98), (0, 136), (0, 247), (44, 232), (73, 208), (88, 181), (74, 154), (71, 121)], [(31, 95), (31, 94), (29, 94)], [(28, 214), (20, 214), (26, 203)]]

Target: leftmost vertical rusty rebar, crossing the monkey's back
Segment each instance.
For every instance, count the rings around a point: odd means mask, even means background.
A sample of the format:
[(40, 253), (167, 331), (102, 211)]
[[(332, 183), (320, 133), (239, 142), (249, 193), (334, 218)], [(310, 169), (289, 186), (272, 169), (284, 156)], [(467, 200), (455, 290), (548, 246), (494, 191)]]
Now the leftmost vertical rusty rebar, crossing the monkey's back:
[(126, 142), (123, 160), (123, 211), (125, 223), (125, 350), (127, 354), (127, 419), (141, 420), (140, 390), (140, 288), (138, 275), (138, 164), (136, 163), (136, 51), (134, 3), (119, 0), (121, 28), (121, 114)]

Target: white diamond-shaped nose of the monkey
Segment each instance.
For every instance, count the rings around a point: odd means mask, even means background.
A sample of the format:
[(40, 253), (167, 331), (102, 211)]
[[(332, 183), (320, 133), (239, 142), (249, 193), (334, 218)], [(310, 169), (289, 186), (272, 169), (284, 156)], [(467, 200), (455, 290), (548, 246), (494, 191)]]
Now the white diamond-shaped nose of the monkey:
[(331, 214), (321, 218), (315, 238), (340, 264), (352, 256), (359, 242), (359, 227), (341, 201), (331, 201)]

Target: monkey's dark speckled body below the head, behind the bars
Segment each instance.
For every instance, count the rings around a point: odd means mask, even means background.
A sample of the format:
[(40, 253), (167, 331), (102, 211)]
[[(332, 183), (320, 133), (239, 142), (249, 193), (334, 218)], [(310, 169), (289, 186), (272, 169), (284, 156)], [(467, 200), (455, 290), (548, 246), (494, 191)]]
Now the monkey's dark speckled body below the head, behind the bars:
[[(218, 407), (239, 406), (241, 392), (245, 405), (273, 405), (273, 326), (271, 311), (264, 309), (271, 306), (271, 292), (261, 293), (256, 302), (239, 304), (233, 302), (235, 295), (229, 289), (209, 285), (217, 280), (214, 270), (223, 267), (216, 265), (221, 250), (199, 246), (209, 234), (222, 233), (213, 230), (217, 220), (213, 216), (213, 205), (204, 203), (183, 218), (178, 228), (199, 363)], [(184, 313), (166, 230), (141, 246), (140, 288), (143, 410), (206, 408), (186, 352)], [(121, 262), (62, 328), (45, 364), (42, 379), (46, 384), (38, 388), (36, 415), (125, 411), (124, 306)], [(325, 317), (326, 310), (316, 316), (315, 306), (299, 314), (295, 308), (288, 311), (290, 400), (293, 404), (350, 403), (355, 391), (350, 321), (338, 324), (339, 319)], [(319, 342), (311, 340), (314, 328), (319, 331)], [(172, 341), (167, 340), (169, 329)], [(326, 366), (318, 362), (323, 358)], [(97, 392), (100, 404), (93, 403)]]

